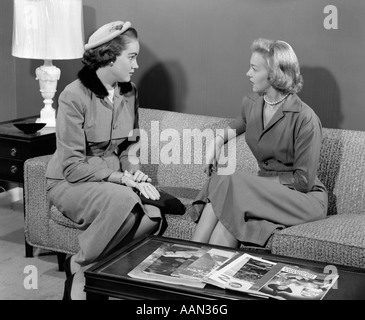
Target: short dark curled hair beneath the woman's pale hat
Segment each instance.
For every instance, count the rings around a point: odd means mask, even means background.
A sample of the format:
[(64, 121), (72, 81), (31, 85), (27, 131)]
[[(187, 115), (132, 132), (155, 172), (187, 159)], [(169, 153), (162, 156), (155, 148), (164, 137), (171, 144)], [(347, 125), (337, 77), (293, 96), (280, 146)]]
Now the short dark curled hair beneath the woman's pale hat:
[(84, 52), (82, 63), (93, 70), (107, 66), (114, 62), (118, 56), (127, 48), (132, 40), (138, 40), (137, 30), (129, 28), (112, 40)]

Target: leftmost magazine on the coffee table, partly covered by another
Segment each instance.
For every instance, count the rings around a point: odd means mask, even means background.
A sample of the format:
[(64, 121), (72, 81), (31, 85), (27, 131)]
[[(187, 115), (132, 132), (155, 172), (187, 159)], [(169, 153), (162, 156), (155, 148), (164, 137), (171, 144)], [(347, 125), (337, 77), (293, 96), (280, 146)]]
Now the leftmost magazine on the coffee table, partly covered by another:
[(161, 281), (203, 288), (205, 283), (196, 280), (184, 279), (173, 275), (183, 264), (191, 264), (208, 249), (196, 246), (185, 246), (178, 244), (162, 244), (157, 250), (143, 260), (137, 267), (128, 273), (132, 278), (149, 281)]

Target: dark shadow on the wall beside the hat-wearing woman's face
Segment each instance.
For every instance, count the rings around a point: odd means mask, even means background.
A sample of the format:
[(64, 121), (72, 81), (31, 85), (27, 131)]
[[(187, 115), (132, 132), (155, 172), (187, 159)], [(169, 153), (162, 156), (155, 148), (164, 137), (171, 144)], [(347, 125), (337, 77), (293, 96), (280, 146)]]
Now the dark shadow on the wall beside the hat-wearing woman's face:
[(158, 61), (146, 47), (142, 47), (139, 62), (149, 64), (137, 81), (139, 103), (142, 108), (183, 112), (187, 94), (186, 77), (176, 61)]

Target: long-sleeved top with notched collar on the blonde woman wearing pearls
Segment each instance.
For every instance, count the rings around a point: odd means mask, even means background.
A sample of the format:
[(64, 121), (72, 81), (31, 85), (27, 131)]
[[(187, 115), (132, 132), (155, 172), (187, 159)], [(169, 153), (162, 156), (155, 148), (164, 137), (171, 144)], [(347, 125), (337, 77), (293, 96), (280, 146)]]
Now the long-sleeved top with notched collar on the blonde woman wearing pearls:
[(229, 125), (237, 134), (245, 132), (259, 175), (277, 175), (281, 184), (301, 192), (324, 191), (316, 176), (322, 143), (317, 115), (291, 94), (264, 128), (263, 108), (263, 97), (250, 94), (242, 101), (241, 114)]

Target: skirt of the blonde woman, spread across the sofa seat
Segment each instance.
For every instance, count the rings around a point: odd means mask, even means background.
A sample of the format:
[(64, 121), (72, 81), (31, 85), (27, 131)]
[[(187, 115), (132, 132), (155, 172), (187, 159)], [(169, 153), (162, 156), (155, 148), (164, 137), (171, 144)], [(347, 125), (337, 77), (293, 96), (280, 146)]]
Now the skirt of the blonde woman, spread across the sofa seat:
[(302, 193), (262, 176), (243, 172), (213, 175), (193, 202), (194, 221), (206, 203), (225, 228), (241, 242), (264, 246), (275, 229), (323, 219), (327, 191)]

